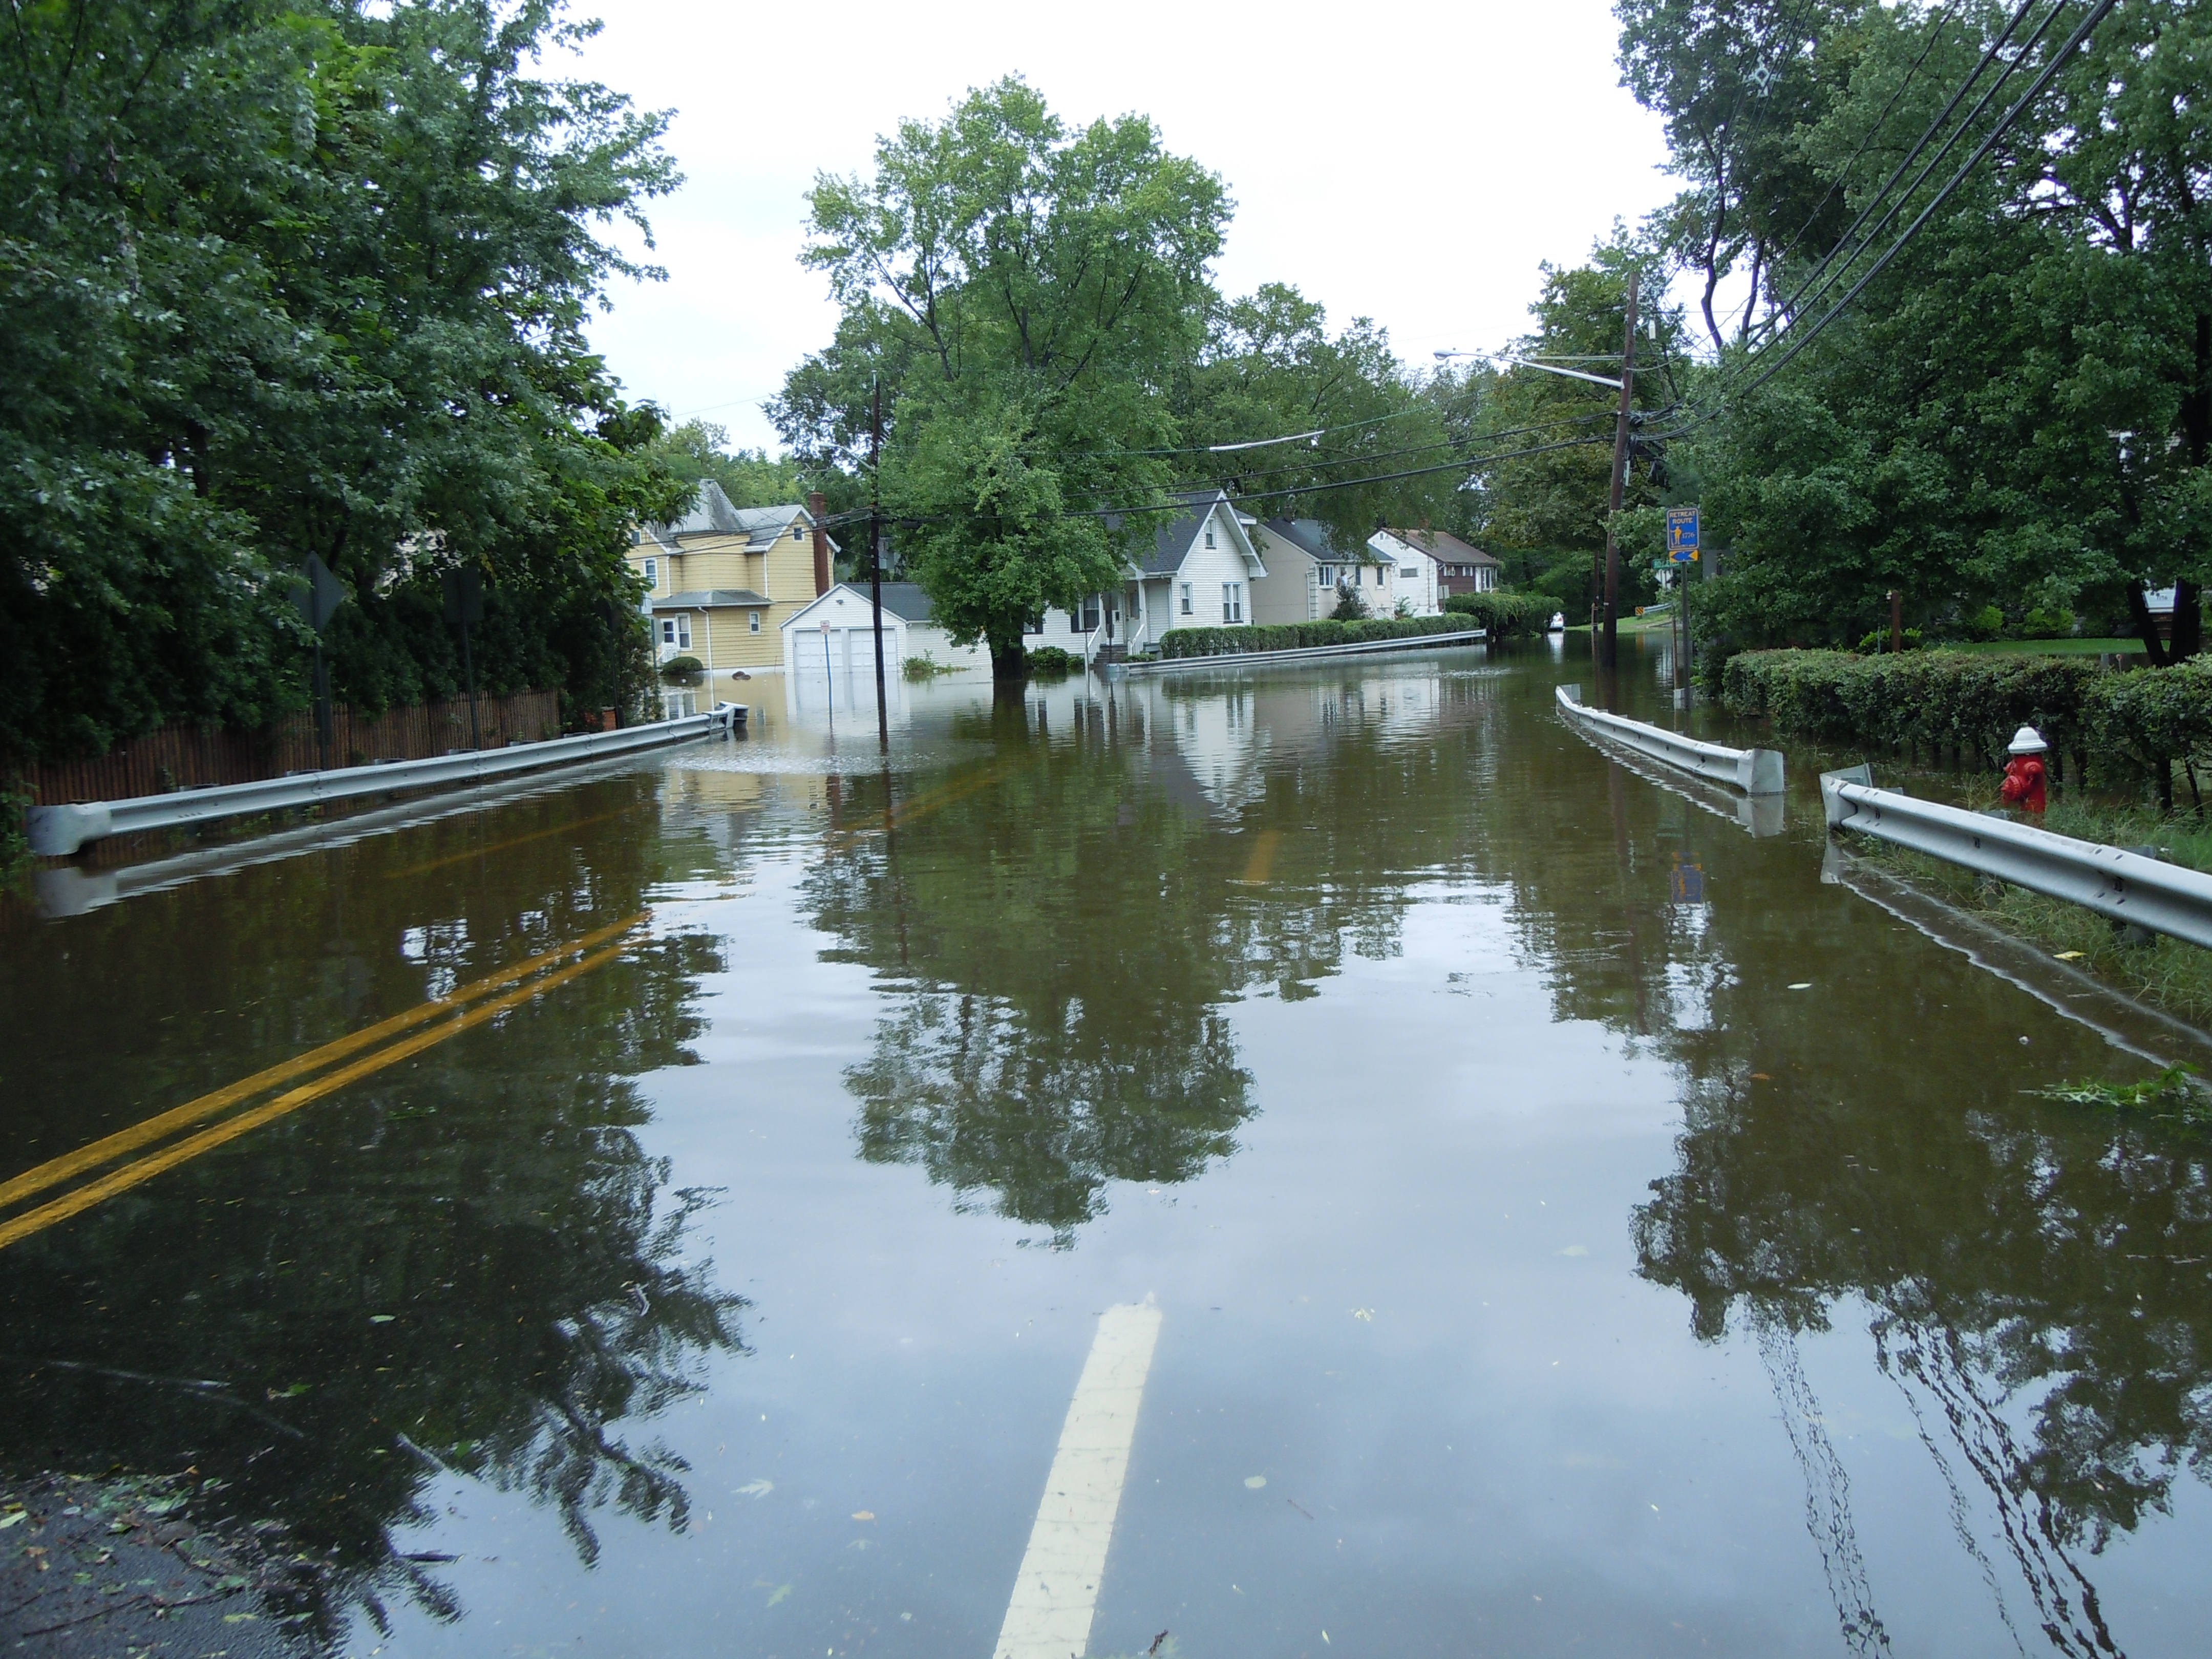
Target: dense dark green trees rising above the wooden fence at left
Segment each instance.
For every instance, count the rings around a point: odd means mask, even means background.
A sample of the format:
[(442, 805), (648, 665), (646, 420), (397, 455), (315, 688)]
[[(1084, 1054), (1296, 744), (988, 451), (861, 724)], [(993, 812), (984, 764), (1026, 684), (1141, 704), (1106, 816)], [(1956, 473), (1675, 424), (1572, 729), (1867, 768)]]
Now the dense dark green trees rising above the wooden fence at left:
[[(635, 672), (626, 524), (675, 482), (586, 349), (602, 234), (675, 181), (553, 0), (35, 0), (0, 31), (0, 752), (303, 701), (290, 568), (354, 604), (341, 695)], [(641, 221), (639, 221), (641, 223)]]

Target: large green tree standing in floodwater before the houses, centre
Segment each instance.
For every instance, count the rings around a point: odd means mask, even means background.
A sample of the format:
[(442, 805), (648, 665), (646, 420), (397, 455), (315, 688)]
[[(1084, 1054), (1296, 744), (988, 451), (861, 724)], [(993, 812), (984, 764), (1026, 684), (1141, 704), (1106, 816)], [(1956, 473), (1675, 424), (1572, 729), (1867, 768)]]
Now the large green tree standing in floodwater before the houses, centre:
[(1168, 502), (1161, 392), (1203, 343), (1221, 179), (1144, 117), (1071, 131), (1002, 80), (902, 122), (872, 177), (825, 175), (810, 204), (803, 257), (843, 325), (792, 374), (781, 429), (856, 460), (883, 385), (902, 560), (951, 635), (1018, 677), (1029, 617), (1115, 586)]

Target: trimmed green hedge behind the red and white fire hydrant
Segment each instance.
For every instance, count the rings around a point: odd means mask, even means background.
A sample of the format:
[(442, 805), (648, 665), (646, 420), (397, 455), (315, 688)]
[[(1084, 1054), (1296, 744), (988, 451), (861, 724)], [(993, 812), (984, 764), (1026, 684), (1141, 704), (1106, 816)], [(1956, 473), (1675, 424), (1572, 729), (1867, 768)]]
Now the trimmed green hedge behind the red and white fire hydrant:
[(1840, 743), (1953, 745), (1995, 763), (2020, 726), (2101, 770), (2163, 772), (2212, 754), (2212, 661), (2115, 672), (2086, 657), (1745, 650), (1721, 701), (1778, 732)]

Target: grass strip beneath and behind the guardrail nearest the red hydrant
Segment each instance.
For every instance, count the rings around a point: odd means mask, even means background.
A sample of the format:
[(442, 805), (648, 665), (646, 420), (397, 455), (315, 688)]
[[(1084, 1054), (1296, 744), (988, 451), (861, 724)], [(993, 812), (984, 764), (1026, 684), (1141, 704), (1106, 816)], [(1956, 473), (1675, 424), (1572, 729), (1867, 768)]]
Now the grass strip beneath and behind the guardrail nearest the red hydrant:
[[(2044, 814), (2042, 827), (2077, 841), (2101, 841), (2108, 847), (2157, 847), (2168, 863), (2212, 872), (2212, 823), (2194, 814), (2161, 818), (2154, 812), (2059, 801)], [(1916, 887), (2028, 940), (2057, 960), (2073, 962), (2177, 1020), (2212, 1029), (2212, 951), (2166, 936), (2130, 942), (2124, 929), (2081, 905), (2008, 887), (1874, 836), (1849, 836), (1847, 845), (1869, 863), (1905, 876)]]

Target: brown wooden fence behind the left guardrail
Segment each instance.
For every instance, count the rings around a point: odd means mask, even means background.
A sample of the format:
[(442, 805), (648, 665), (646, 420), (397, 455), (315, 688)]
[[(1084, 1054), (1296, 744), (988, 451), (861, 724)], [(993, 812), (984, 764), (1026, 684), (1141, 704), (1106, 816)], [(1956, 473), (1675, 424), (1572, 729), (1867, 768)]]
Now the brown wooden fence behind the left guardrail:
[[(482, 745), (535, 743), (560, 737), (560, 692), (478, 697), (476, 721)], [(345, 703), (330, 710), (330, 763), (427, 761), (471, 748), (469, 699), (387, 708), (378, 717), (354, 714)], [(139, 794), (204, 790), (212, 783), (259, 783), (321, 765), (314, 714), (288, 714), (274, 726), (232, 732), (199, 726), (164, 726), (146, 737), (117, 743), (93, 761), (53, 761), (22, 772), (31, 799), (42, 805), (69, 801), (128, 801)]]

